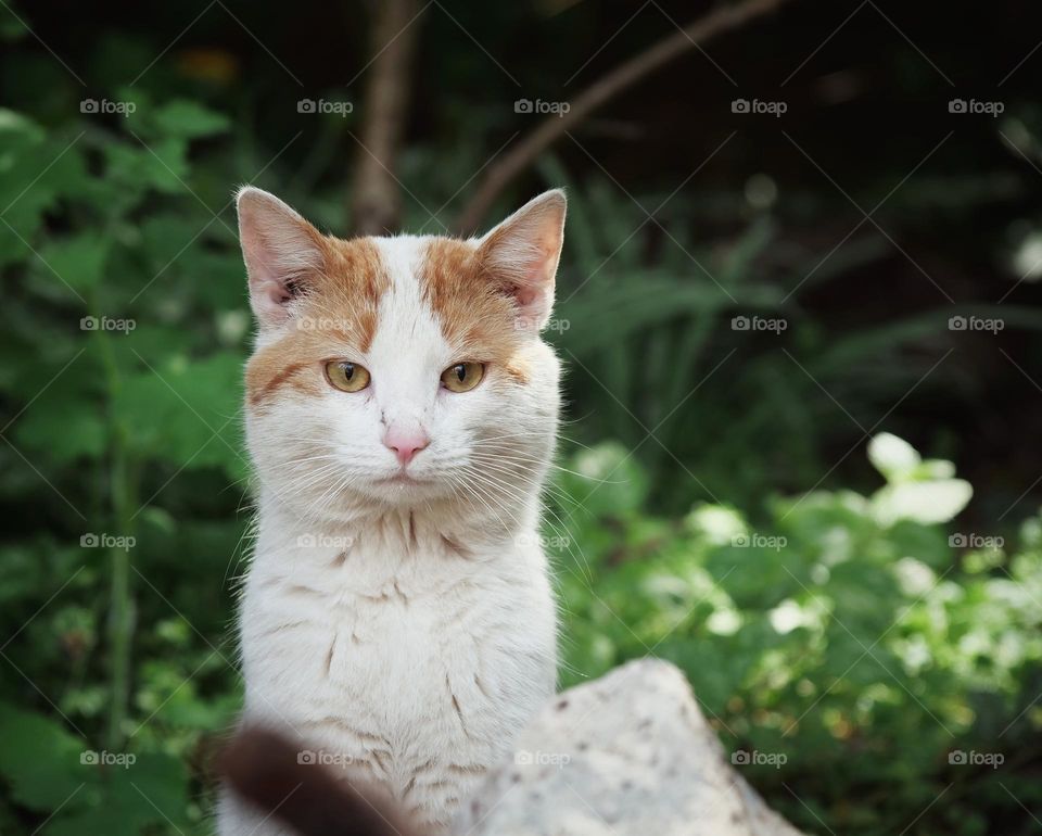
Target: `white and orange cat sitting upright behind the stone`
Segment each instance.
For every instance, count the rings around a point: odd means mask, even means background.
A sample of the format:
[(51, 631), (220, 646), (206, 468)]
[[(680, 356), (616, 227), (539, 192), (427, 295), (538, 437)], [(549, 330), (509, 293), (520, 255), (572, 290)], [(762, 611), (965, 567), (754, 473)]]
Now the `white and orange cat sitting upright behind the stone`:
[[(445, 832), (556, 686), (541, 548), (564, 193), (478, 239), (342, 240), (237, 198), (258, 532), (243, 722)], [(221, 836), (284, 833), (225, 794)]]

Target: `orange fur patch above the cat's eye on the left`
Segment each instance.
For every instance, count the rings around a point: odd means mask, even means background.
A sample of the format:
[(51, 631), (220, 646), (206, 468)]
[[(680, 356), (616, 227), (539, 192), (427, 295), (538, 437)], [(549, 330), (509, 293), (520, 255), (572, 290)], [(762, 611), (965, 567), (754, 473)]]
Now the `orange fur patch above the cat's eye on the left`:
[(380, 296), (390, 278), (368, 238), (322, 236), (322, 270), (297, 283), (300, 297), (284, 333), (254, 352), (246, 365), (246, 398), (258, 406), (282, 387), (320, 394), (321, 364), (343, 352), (365, 353), (377, 331)]

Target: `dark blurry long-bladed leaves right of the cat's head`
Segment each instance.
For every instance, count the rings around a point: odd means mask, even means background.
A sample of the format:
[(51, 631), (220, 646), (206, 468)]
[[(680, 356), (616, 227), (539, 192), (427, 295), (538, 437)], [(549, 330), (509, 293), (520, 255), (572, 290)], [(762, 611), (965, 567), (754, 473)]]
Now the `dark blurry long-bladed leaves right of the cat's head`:
[[(570, 181), (556, 161), (543, 172)], [(813, 292), (872, 267), (886, 241), (823, 258), (779, 241), (771, 216), (732, 210), (733, 231), (709, 243), (691, 230), (715, 207), (673, 192), (631, 199), (597, 177), (572, 188), (549, 331), (571, 365), (570, 396), (605, 406), (576, 416), (588, 436), (635, 451), (656, 505), (683, 512), (691, 497), (670, 485), (691, 477), (700, 498), (744, 507), (764, 485), (803, 490), (837, 469), (833, 444), (850, 448), (851, 432), (862, 430), (856, 441), (871, 427), (865, 416), (889, 415), (915, 390), (945, 397), (960, 389), (955, 364), (915, 351), (950, 339), (951, 307), (852, 328), (808, 308)], [(966, 313), (1042, 328), (1037, 308)], [(778, 330), (736, 321), (753, 318)]]

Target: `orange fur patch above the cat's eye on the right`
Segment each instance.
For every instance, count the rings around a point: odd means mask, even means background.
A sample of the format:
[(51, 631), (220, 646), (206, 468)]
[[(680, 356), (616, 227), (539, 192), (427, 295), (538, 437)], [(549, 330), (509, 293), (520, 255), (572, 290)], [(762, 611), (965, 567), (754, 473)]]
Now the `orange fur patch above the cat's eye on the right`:
[(485, 269), (472, 243), (432, 240), (423, 254), (419, 280), (445, 340), (465, 353), (459, 359), (491, 363), (528, 382), (513, 301)]

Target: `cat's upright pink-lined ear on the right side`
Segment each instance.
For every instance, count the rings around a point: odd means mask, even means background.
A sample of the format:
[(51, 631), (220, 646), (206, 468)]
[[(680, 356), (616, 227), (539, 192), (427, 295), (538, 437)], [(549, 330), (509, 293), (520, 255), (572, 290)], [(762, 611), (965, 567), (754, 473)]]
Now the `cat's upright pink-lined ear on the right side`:
[(536, 330), (554, 307), (567, 206), (561, 189), (545, 191), (479, 241), (482, 269), (513, 297), (519, 324)]

